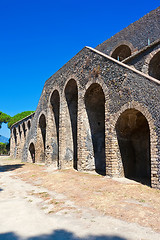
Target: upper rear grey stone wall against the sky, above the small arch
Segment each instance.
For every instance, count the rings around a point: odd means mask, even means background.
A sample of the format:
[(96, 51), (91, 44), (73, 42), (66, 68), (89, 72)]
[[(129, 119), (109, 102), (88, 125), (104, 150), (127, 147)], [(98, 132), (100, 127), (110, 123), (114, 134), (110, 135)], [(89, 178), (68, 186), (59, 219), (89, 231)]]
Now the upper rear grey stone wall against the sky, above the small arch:
[[(160, 7), (130, 24), (110, 39), (99, 44), (96, 49), (110, 55), (120, 45), (130, 47), (132, 53), (159, 39)], [(148, 40), (149, 39), (149, 40)]]

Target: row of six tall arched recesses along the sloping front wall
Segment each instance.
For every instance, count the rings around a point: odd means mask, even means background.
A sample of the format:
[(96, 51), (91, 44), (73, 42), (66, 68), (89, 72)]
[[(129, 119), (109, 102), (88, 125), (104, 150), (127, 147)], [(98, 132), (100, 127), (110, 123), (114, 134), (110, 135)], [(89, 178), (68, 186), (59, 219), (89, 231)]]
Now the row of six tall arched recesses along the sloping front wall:
[[(105, 142), (105, 94), (98, 83), (93, 83), (86, 90), (84, 96), (84, 109), (81, 109), (81, 122), (83, 122), (83, 146), (80, 146), (78, 132), (78, 88), (74, 79), (71, 79), (65, 87), (66, 108), (62, 111), (60, 95), (54, 90), (50, 97), (47, 117), (42, 113), (38, 120), (37, 143), (31, 141), (29, 154), (33, 162), (45, 161), (47, 153), (50, 158), (60, 166), (60, 142), (63, 138), (64, 154), (61, 157), (66, 162), (71, 162), (72, 167), (79, 166), (79, 148), (87, 152), (86, 161), (90, 170), (102, 175), (106, 174), (106, 150)], [(63, 103), (64, 105), (64, 103)], [(60, 116), (63, 115), (63, 122)], [(64, 125), (65, 133), (61, 134)], [(47, 126), (48, 124), (48, 126)], [(125, 110), (115, 125), (116, 136), (120, 150), (124, 175), (137, 180), (144, 179), (151, 182), (151, 154), (150, 154), (150, 130), (145, 116), (136, 109)], [(86, 168), (87, 170), (87, 168)]]

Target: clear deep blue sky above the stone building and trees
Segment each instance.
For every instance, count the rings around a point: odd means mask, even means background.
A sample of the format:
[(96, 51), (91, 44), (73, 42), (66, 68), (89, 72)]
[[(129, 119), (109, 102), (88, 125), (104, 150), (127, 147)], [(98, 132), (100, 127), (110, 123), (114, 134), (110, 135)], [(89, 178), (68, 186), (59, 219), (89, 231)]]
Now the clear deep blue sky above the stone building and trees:
[[(0, 111), (36, 110), (45, 81), (84, 46), (96, 47), (158, 1), (0, 0)], [(9, 136), (4, 127), (0, 134)]]

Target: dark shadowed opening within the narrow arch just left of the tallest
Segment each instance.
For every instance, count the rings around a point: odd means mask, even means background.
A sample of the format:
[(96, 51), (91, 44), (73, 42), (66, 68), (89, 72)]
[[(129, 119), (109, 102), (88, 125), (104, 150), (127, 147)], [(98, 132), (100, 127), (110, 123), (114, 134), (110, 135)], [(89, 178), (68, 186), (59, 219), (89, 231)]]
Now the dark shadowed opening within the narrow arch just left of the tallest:
[[(56, 158), (57, 160), (57, 165), (59, 167), (59, 109), (60, 109), (60, 97), (59, 93), (57, 90), (53, 91), (51, 95), (51, 106), (52, 106), (52, 111), (53, 111), (53, 116), (54, 116), (54, 127), (56, 128), (56, 136), (55, 141), (53, 144), (53, 157), (52, 159)], [(54, 131), (54, 129), (53, 129)]]

